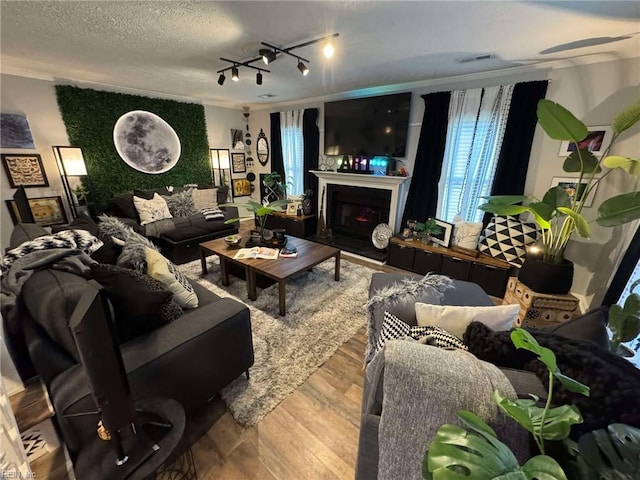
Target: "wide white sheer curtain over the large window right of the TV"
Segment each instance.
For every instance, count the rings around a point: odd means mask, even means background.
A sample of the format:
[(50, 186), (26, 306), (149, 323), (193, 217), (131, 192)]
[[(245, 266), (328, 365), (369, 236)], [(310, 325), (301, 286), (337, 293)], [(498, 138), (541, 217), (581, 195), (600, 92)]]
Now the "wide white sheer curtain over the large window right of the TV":
[(513, 85), (451, 92), (438, 217), (480, 222), (491, 193)]

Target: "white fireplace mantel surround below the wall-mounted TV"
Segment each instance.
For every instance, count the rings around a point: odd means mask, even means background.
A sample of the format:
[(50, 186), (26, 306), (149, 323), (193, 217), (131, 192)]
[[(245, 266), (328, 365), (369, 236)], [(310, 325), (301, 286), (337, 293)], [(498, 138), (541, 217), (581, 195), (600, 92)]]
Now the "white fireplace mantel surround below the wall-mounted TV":
[(394, 232), (400, 230), (402, 221), (402, 207), (406, 200), (409, 179), (411, 177), (396, 177), (387, 175), (366, 175), (361, 173), (342, 173), (312, 170), (318, 177), (318, 211), (322, 209), (320, 205), (322, 190), (329, 184), (350, 185), (354, 187), (379, 188), (391, 190), (391, 204), (389, 205), (389, 226)]

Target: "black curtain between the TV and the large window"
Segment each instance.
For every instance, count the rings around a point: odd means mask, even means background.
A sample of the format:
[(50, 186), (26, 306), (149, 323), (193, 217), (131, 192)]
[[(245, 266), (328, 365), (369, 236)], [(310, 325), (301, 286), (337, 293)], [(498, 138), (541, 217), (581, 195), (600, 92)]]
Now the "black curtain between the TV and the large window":
[(447, 139), (451, 92), (429, 93), (422, 98), (424, 117), (402, 226), (407, 224), (407, 219), (423, 222), (428, 217), (435, 217), (438, 206), (438, 182)]

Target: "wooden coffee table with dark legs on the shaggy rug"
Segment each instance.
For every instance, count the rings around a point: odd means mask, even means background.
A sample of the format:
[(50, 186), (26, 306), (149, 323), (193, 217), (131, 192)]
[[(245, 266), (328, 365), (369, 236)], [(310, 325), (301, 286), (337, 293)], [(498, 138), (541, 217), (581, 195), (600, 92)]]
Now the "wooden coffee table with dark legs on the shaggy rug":
[[(244, 242), (243, 242), (244, 243)], [(335, 257), (336, 282), (340, 281), (340, 249), (323, 245), (321, 243), (310, 242), (302, 238), (290, 237), (287, 235), (287, 247), (296, 247), (298, 256), (295, 258), (278, 258), (276, 260), (264, 260), (260, 258), (236, 260), (234, 255), (237, 248), (230, 248), (224, 238), (211, 240), (200, 244), (200, 263), (202, 274), (207, 274), (207, 256), (217, 255), (220, 258), (220, 273), (222, 285), (229, 285), (228, 263), (236, 264), (244, 269), (245, 280), (247, 281), (247, 296), (249, 300), (255, 300), (256, 276), (262, 275), (278, 282), (278, 295), (280, 301), (280, 315), (285, 315), (285, 293), (287, 279), (304, 271), (311, 270), (312, 267)]]

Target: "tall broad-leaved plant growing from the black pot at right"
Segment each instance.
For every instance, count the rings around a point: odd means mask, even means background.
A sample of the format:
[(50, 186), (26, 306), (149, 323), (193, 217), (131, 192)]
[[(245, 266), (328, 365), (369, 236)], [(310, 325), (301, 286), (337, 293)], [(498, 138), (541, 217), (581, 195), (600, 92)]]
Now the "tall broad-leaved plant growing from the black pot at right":
[[(537, 108), (538, 123), (554, 140), (570, 141), (575, 145), (584, 140), (588, 129), (569, 110), (550, 100), (542, 99)], [(610, 155), (611, 148), (621, 133), (640, 120), (640, 100), (619, 113), (611, 128), (613, 136), (602, 157), (596, 158), (587, 149), (576, 148), (562, 165), (565, 172), (578, 176), (585, 184), (582, 195), (571, 198), (561, 186), (550, 188), (540, 200), (527, 195), (499, 195), (487, 197), (488, 202), (478, 208), (499, 215), (520, 215), (528, 212), (542, 232), (542, 259), (560, 263), (564, 259), (567, 242), (573, 233), (589, 238), (591, 227), (582, 215), (585, 200), (614, 169), (632, 176), (640, 175), (640, 160)], [(599, 176), (598, 176), (599, 175)], [(526, 205), (521, 205), (527, 202)], [(616, 195), (598, 207), (595, 221), (603, 227), (615, 227), (640, 218), (640, 192)]]

